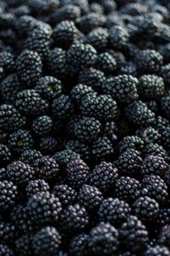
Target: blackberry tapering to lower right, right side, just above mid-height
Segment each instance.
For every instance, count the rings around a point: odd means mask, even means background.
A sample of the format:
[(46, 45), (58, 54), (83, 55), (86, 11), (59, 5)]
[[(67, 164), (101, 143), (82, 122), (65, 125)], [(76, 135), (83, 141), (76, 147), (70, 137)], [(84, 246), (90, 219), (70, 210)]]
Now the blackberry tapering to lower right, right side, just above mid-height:
[(152, 125), (155, 122), (155, 113), (147, 107), (144, 102), (132, 102), (127, 108), (127, 118), (139, 126)]

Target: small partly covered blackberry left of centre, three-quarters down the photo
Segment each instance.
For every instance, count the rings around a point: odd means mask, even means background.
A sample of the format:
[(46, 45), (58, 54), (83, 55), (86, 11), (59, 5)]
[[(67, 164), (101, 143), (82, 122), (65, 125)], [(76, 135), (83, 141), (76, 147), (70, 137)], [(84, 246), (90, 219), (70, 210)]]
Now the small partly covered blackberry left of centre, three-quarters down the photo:
[(77, 201), (77, 191), (65, 184), (55, 185), (53, 194), (59, 198), (59, 201), (65, 207)]

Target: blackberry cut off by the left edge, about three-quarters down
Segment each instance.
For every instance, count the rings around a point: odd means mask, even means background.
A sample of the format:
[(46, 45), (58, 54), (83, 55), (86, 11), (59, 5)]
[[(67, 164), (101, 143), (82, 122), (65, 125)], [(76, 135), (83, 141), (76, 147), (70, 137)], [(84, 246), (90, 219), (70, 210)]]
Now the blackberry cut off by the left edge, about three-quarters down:
[(17, 186), (8, 180), (0, 181), (0, 212), (14, 207), (17, 201)]

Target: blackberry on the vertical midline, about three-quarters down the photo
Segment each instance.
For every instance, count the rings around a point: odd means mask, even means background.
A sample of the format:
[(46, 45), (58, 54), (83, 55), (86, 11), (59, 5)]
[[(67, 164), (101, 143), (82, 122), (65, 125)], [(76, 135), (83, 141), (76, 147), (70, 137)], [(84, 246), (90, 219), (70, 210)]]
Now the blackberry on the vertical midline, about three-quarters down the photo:
[(84, 184), (78, 192), (77, 199), (83, 207), (93, 210), (99, 207), (103, 195), (96, 187)]

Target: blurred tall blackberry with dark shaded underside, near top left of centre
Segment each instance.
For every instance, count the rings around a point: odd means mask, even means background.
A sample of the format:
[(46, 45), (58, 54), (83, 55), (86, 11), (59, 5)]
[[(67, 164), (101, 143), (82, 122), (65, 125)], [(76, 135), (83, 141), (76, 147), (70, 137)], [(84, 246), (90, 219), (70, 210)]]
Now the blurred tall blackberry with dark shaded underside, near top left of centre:
[(69, 46), (75, 41), (77, 38), (77, 27), (74, 22), (71, 20), (63, 20), (57, 26), (54, 27), (53, 38), (54, 42), (59, 47)]

